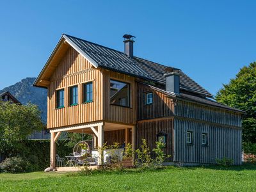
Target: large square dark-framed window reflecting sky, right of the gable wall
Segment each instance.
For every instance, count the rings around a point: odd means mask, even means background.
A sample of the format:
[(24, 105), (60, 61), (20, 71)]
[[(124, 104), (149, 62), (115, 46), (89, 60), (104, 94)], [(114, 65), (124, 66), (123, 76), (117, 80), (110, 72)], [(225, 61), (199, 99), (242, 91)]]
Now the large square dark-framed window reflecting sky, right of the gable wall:
[(110, 103), (117, 106), (130, 106), (130, 87), (128, 83), (110, 80)]

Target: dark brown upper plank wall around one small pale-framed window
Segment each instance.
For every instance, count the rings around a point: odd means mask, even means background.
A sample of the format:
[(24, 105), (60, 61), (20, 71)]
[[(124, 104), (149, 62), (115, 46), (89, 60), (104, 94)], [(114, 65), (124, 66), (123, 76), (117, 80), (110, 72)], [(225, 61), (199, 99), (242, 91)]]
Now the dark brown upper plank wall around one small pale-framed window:
[[(138, 83), (138, 120), (173, 116), (173, 99), (166, 97), (164, 93), (152, 90), (145, 84)], [(146, 104), (145, 94), (153, 93), (153, 104)]]

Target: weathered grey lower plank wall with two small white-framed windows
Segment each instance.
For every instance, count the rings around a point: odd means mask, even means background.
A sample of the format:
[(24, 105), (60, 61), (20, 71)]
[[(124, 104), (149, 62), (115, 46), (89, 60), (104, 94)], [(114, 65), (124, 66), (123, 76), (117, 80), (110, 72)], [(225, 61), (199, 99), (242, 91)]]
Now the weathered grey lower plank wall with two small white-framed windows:
[[(175, 155), (181, 163), (216, 163), (216, 158), (234, 159), (241, 164), (241, 129), (175, 118)], [(193, 145), (186, 143), (186, 132), (193, 131)], [(207, 133), (208, 145), (202, 145), (202, 133)]]

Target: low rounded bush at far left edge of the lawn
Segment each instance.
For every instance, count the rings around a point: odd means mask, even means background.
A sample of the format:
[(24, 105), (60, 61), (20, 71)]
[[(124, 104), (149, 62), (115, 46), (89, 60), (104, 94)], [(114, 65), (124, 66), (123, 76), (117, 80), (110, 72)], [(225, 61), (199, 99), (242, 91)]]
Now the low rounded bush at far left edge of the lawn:
[(1, 172), (24, 173), (31, 170), (31, 164), (22, 157), (10, 157), (0, 163)]

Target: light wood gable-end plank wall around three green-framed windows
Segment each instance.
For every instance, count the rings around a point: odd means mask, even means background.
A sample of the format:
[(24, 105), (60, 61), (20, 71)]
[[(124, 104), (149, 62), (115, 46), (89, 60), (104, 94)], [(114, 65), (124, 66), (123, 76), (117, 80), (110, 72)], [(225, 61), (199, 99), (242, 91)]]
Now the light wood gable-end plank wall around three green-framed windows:
[[(88, 81), (93, 82), (93, 102), (82, 104), (83, 83)], [(68, 87), (73, 85), (78, 86), (79, 104), (68, 106)], [(56, 90), (62, 88), (65, 90), (65, 108), (56, 109)], [(93, 68), (89, 61), (70, 47), (51, 77), (47, 105), (48, 128), (102, 120), (101, 70)]]

